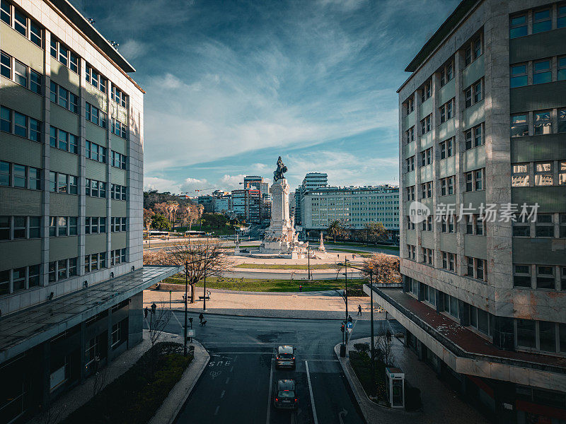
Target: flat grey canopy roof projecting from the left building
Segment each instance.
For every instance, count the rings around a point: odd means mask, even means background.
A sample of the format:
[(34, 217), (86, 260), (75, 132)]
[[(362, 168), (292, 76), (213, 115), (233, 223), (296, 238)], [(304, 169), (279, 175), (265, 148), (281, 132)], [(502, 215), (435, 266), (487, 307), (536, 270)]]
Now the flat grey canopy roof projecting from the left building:
[(99, 312), (178, 273), (177, 266), (144, 266), (110, 280), (0, 318), (0, 363), (61, 334)]

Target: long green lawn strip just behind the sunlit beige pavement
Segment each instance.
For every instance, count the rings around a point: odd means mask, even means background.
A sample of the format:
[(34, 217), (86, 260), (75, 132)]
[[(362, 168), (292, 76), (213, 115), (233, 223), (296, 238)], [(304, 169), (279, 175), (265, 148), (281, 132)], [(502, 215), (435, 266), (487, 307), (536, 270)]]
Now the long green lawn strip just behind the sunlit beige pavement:
[[(163, 283), (185, 284), (185, 278), (178, 274), (166, 278)], [(352, 290), (350, 295), (363, 295), (362, 283), (365, 280), (348, 280), (348, 290)], [(261, 278), (207, 278), (207, 288), (220, 288), (223, 290), (239, 290), (239, 291), (253, 291), (253, 292), (294, 292), (299, 291), (299, 285), (303, 286), (303, 291), (318, 291), (318, 290), (343, 290), (345, 281), (344, 279), (338, 280), (269, 280)], [(203, 282), (197, 283), (197, 287), (202, 287)], [(351, 289), (350, 289), (351, 288)]]

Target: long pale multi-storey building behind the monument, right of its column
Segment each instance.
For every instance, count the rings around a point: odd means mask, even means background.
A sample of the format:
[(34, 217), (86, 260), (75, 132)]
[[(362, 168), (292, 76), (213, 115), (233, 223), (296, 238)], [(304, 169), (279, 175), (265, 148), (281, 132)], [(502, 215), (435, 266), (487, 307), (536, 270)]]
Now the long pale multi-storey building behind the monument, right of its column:
[(323, 230), (334, 220), (360, 230), (366, 223), (383, 223), (391, 234), (399, 232), (399, 187), (319, 187), (303, 194), (303, 230)]

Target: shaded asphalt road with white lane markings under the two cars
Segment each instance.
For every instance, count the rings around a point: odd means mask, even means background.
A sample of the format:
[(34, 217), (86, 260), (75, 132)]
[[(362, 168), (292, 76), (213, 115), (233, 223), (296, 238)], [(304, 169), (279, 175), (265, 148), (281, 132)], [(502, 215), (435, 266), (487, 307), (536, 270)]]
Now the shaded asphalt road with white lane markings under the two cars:
[[(182, 332), (183, 313), (166, 331)], [(207, 315), (197, 339), (211, 360), (175, 423), (364, 423), (333, 348), (342, 340), (340, 320), (277, 319)], [(376, 321), (376, 331), (388, 325)], [(369, 336), (369, 322), (356, 321), (352, 335)], [(276, 370), (275, 348), (296, 347), (296, 370)], [(278, 379), (295, 379), (297, 411), (278, 411), (273, 392)]]

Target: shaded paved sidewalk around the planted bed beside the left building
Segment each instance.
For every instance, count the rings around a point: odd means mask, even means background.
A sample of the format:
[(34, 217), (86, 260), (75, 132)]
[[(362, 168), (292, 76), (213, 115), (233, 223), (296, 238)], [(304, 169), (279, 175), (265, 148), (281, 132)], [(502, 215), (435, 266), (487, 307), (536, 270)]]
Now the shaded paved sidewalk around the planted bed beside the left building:
[[(178, 343), (182, 343), (183, 337), (178, 336), (177, 334), (171, 333), (162, 333), (161, 337), (158, 341), (176, 341)], [(177, 393), (175, 390), (178, 389), (178, 385), (183, 382), (187, 384), (189, 378), (194, 379), (193, 384), (197, 381), (198, 377), (200, 377), (200, 373), (204, 369), (204, 366), (208, 363), (209, 355), (207, 351), (202, 347), (202, 345), (194, 341), (193, 344), (195, 345), (195, 359), (190, 363), (187, 367), (187, 370), (183, 374), (182, 379), (180, 382), (171, 389), (171, 392), (168, 398), (163, 402), (163, 406), (168, 404), (169, 397), (171, 397), (174, 392)], [(106, 377), (106, 381), (103, 383), (103, 387), (108, 386), (111, 382), (113, 382), (117, 377), (124, 374), (127, 370), (129, 370), (134, 363), (141, 358), (141, 355), (146, 353), (146, 351), (151, 348), (151, 341), (149, 341), (149, 330), (144, 330), (144, 339), (141, 343), (138, 343), (133, 348), (125, 351), (121, 355), (119, 355), (115, 360), (113, 360), (110, 364), (108, 364), (105, 369), (108, 372)], [(204, 366), (202, 365), (204, 361)], [(196, 365), (196, 366), (195, 366)], [(195, 372), (200, 370), (198, 375), (195, 375)], [(93, 384), (94, 384), (94, 377), (88, 377), (84, 382), (79, 384), (78, 386), (74, 387), (73, 389), (67, 391), (67, 393), (60, 396), (56, 401), (54, 401), (50, 405), (49, 413), (51, 414), (51, 420), (49, 420), (50, 424), (57, 424), (67, 418), (72, 412), (76, 411), (76, 409), (80, 408), (87, 401), (89, 401), (93, 397)], [(192, 388), (192, 385), (190, 386)], [(188, 394), (187, 394), (188, 396)], [(185, 396), (185, 399), (186, 397)], [(181, 406), (183, 405), (181, 403)], [(161, 411), (161, 408), (158, 409), (158, 412)], [(167, 410), (164, 411), (167, 413)], [(176, 416), (176, 413), (175, 413)], [(173, 418), (175, 418), (173, 416)], [(172, 422), (172, 420), (170, 421)], [(45, 423), (45, 420), (42, 420), (40, 416), (36, 416), (28, 421), (28, 424), (42, 424)], [(154, 424), (154, 421), (151, 421)], [(156, 421), (155, 424), (165, 423), (164, 421)]]

